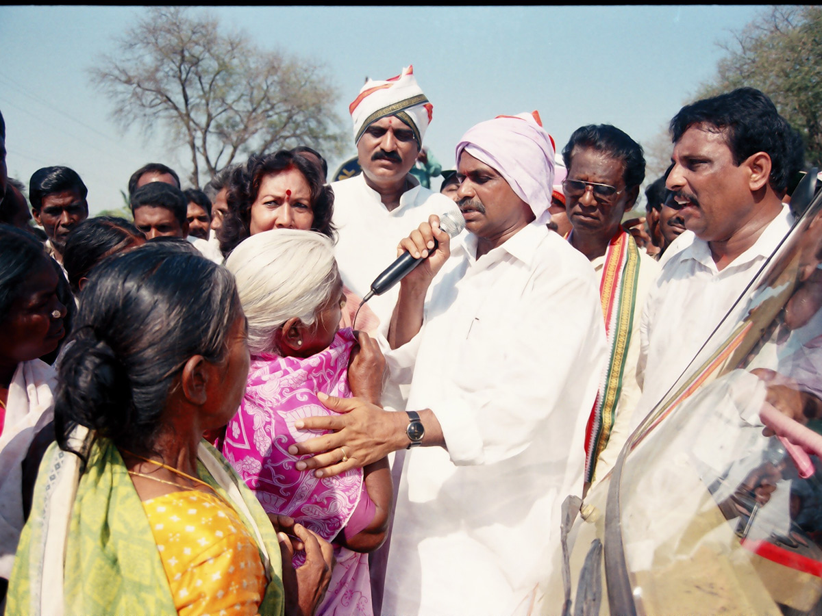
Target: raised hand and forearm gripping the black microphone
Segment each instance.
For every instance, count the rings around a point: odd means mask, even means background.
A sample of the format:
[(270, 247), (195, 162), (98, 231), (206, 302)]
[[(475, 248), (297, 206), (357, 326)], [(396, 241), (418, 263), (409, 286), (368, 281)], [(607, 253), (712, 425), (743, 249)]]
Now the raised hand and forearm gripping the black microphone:
[[(436, 240), (436, 241), (435, 241)], [(431, 281), (451, 254), (450, 237), (440, 228), (440, 217), (432, 214), (427, 223), (414, 229), (399, 242), (397, 255), (408, 251), (423, 262), (399, 283), (399, 297), (391, 315), (388, 342), (391, 348), (403, 346), (423, 326), (423, 307)]]

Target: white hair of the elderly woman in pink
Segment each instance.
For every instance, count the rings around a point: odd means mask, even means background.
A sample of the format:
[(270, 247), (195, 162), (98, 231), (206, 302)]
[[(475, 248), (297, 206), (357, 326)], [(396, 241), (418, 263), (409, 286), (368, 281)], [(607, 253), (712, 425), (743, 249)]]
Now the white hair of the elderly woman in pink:
[(312, 324), (339, 280), (331, 240), (298, 229), (271, 229), (247, 237), (225, 266), (237, 279), (253, 355), (276, 351), (275, 331), (288, 319)]

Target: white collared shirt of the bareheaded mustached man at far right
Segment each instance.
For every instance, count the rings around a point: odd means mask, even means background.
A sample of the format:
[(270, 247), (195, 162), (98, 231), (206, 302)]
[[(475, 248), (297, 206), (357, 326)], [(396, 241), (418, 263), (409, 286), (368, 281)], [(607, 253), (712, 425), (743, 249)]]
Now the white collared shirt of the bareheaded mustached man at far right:
[[(713, 262), (708, 242), (693, 233), (682, 233), (668, 246), (642, 315), (644, 381), (632, 430), (677, 381), (792, 223), (791, 210), (783, 205), (754, 245), (722, 271)], [(744, 302), (739, 307), (743, 306)]]

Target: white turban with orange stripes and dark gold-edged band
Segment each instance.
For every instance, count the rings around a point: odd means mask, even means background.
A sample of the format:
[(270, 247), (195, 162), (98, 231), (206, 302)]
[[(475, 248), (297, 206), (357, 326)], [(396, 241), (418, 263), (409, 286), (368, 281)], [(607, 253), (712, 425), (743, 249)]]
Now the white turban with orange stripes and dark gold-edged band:
[(369, 79), (349, 112), (354, 121), (354, 144), (368, 126), (382, 117), (396, 116), (411, 127), (417, 145), (423, 147), (423, 136), (431, 123), (434, 106), (428, 102), (413, 76), (413, 66), (384, 81)]

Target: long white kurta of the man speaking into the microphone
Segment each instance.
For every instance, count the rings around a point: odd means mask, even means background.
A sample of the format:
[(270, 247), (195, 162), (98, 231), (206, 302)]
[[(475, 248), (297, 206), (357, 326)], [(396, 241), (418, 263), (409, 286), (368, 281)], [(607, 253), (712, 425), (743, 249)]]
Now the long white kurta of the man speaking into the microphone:
[[(584, 428), (605, 349), (596, 274), (532, 223), (478, 260), (463, 233), (396, 349), (409, 409), (431, 408), (447, 450), (406, 452), (382, 614), (527, 614), (580, 494)], [(405, 375), (407, 376), (407, 374)]]

